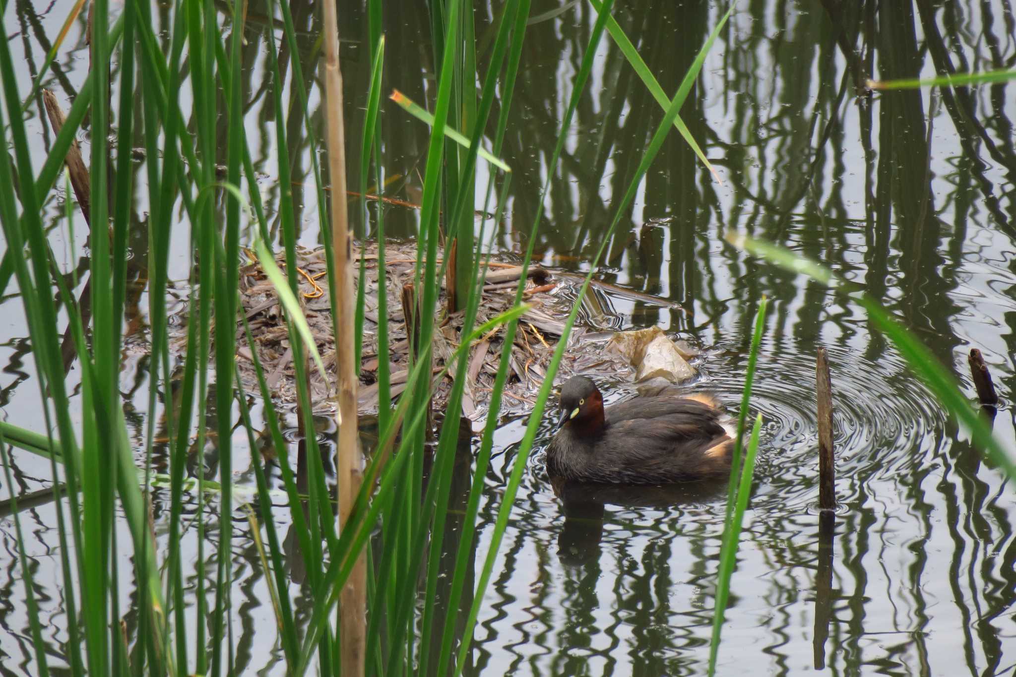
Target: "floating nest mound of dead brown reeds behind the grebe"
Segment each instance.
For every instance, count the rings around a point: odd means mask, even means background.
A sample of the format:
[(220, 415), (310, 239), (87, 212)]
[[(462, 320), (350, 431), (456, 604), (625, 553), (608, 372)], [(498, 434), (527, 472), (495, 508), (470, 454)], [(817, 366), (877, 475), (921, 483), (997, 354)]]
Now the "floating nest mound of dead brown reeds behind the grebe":
[[(405, 389), (408, 377), (409, 341), (402, 299), (404, 285), (411, 284), (414, 279), (416, 244), (389, 242), (385, 247), (385, 257), (389, 350), (382, 355), (378, 353), (377, 340), (377, 245), (365, 245), (355, 253), (355, 260), (365, 264), (367, 279), (358, 397), (361, 413), (368, 414), (378, 409), (377, 370), (382, 359), (388, 361), (392, 398)], [(317, 369), (309, 370), (312, 401), (315, 411), (333, 410), (335, 401), (331, 384), (334, 383), (335, 374), (335, 342), (325, 282), (324, 252), (300, 249), (297, 258), (301, 303), (327, 374), (325, 381)], [(276, 261), (284, 269), (284, 254), (279, 253)], [(510, 255), (491, 262), (475, 319), (477, 326), (511, 308), (520, 275), (521, 266)], [(531, 308), (521, 317), (510, 346), (510, 370), (502, 399), (502, 411), (508, 414), (527, 411), (535, 403), (535, 394), (546, 378), (548, 365), (564, 331), (565, 319), (577, 296), (579, 285), (578, 277), (573, 274), (536, 266), (530, 267), (527, 277), (524, 296), (525, 302)], [(253, 361), (256, 351), (273, 400), (278, 404), (292, 404), (297, 399), (297, 391), (289, 328), (274, 286), (253, 257), (240, 269), (240, 296), (254, 337), (254, 345), (249, 345), (243, 325), (238, 322), (237, 368), (241, 381), (249, 392), (259, 394)], [(443, 378), (439, 375), (459, 346), (463, 313), (447, 315), (443, 311), (443, 288), (439, 306), (434, 332), (433, 385), (434, 406), (441, 410), (450, 395), (454, 373), (449, 370)], [(180, 331), (183, 323), (174, 324), (177, 331)], [(462, 413), (474, 421), (485, 418), (501, 353), (505, 348), (504, 335), (504, 327), (498, 327), (474, 341), (469, 349), (469, 357), (465, 362), (468, 374)], [(179, 347), (182, 347), (181, 338), (183, 337), (178, 336), (175, 342)], [(626, 373), (631, 373), (631, 366), (618, 356), (602, 354), (600, 350), (573, 350), (579, 344), (598, 342), (604, 338), (602, 333), (597, 334), (587, 326), (576, 325), (569, 339), (573, 345), (565, 352), (560, 375), (564, 377), (576, 371), (600, 371), (623, 377)]]

